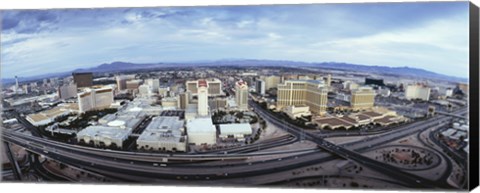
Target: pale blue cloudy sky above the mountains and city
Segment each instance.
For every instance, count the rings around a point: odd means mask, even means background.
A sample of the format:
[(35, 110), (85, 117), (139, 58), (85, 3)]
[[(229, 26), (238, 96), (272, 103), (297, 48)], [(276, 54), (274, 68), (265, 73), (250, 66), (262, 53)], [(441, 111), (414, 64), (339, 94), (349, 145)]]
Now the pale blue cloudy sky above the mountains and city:
[(228, 58), (468, 77), (468, 2), (2, 11), (2, 78)]

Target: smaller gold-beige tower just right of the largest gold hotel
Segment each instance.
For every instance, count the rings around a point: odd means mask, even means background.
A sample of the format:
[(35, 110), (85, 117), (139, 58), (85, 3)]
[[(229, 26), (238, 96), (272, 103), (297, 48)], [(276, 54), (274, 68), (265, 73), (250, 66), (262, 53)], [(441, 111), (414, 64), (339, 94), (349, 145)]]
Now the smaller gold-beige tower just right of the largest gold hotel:
[(354, 110), (372, 108), (375, 103), (375, 91), (371, 87), (360, 87), (352, 91), (350, 106)]

